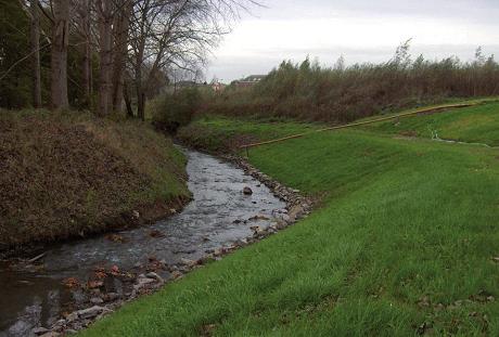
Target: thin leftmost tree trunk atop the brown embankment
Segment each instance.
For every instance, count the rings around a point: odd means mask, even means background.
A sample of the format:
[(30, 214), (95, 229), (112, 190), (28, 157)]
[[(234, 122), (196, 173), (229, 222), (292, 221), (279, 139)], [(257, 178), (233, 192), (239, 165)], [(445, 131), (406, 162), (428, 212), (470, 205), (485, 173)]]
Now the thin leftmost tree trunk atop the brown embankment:
[(31, 10), (31, 52), (33, 52), (33, 106), (41, 107), (40, 75), (40, 15), (38, 0), (30, 0)]

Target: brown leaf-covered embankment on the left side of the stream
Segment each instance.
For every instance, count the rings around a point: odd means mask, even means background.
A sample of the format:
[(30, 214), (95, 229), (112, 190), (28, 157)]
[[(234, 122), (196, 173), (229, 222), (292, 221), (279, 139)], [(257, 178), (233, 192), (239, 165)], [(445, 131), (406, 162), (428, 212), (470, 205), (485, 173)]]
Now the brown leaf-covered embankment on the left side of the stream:
[(2, 111), (0, 248), (164, 217), (189, 197), (184, 165), (139, 122)]

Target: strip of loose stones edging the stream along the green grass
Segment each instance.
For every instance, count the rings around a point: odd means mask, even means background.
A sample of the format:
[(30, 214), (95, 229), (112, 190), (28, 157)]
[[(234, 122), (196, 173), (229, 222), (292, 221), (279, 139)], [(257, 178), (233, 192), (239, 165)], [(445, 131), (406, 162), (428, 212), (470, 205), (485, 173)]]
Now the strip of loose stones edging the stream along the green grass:
[[(180, 263), (167, 265), (164, 261), (150, 260), (146, 265), (141, 265), (132, 271), (100, 270), (99, 272), (105, 275), (105, 277), (119, 278), (124, 283), (125, 288), (127, 288), (127, 294), (123, 297), (117, 297), (116, 294), (113, 293), (102, 294), (100, 291), (102, 284), (99, 281), (93, 284), (90, 282), (88, 285), (91, 286), (87, 287), (85, 290), (90, 296), (95, 294), (98, 295), (91, 299), (93, 306), (82, 307), (69, 314), (63, 315), (49, 328), (37, 328), (34, 334), (40, 336), (43, 336), (43, 334), (59, 336), (57, 334), (71, 334), (85, 329), (104, 315), (116, 311), (135, 299), (142, 298), (143, 296), (151, 295), (162, 289), (163, 286), (183, 277), (192, 270), (202, 268), (209, 262), (220, 260), (235, 250), (255, 244), (270, 235), (285, 230), (287, 226), (295, 224), (299, 219), (307, 217), (312, 210), (315, 203), (311, 198), (302, 196), (297, 190), (292, 190), (282, 185), (278, 181), (260, 172), (244, 158), (234, 155), (221, 154), (216, 154), (214, 156), (235, 165), (238, 168), (243, 170), (245, 174), (255, 178), (261, 184), (269, 187), (270, 192), (276, 197), (285, 203), (285, 210), (281, 213), (274, 215), (276, 221), (268, 229), (255, 226), (253, 229), (254, 233), (251, 237), (238, 241), (235, 244), (230, 246), (221, 246), (214, 249), (213, 252), (206, 254), (195, 261), (182, 259)], [(159, 276), (159, 271), (168, 272), (169, 277), (163, 278)], [(130, 277), (130, 275), (133, 276)], [(78, 284), (75, 286), (80, 285)]]

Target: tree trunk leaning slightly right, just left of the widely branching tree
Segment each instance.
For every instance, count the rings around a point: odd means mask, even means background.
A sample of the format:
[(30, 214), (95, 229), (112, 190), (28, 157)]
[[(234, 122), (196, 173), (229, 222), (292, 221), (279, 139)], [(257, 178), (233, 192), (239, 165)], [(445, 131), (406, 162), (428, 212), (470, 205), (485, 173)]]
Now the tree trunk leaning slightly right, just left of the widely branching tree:
[(124, 98), (124, 72), (128, 53), (128, 30), (130, 26), (131, 3), (126, 4), (115, 23), (115, 50), (113, 60), (113, 109), (120, 111)]

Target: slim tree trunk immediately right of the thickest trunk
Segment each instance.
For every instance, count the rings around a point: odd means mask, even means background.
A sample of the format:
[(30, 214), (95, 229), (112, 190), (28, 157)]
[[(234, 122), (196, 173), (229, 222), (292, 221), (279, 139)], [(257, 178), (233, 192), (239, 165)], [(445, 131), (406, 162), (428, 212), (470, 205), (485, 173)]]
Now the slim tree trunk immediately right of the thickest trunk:
[(90, 0), (84, 0), (82, 9), (82, 27), (84, 27), (84, 61), (82, 61), (82, 80), (84, 95), (88, 108), (92, 108), (92, 49), (90, 44)]

